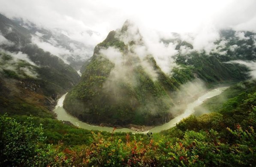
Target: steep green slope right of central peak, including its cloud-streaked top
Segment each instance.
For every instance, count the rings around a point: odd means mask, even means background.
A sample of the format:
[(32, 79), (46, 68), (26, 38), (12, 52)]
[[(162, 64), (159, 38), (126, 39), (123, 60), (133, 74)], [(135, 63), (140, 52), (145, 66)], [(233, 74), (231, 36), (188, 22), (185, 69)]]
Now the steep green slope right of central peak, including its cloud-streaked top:
[[(193, 73), (208, 84), (247, 79), (246, 72), (249, 72), (249, 69), (246, 66), (229, 62), (232, 60), (256, 61), (255, 41), (255, 33), (221, 30), (220, 39), (214, 42), (211, 51), (207, 52), (193, 49), (193, 45), (182, 41), (179, 37), (163, 40), (168, 45), (177, 44), (175, 49), (178, 50), (178, 54), (174, 57), (176, 63), (182, 68), (174, 70), (184, 71), (187, 74)], [(177, 76), (178, 80), (184, 80), (184, 75)]]

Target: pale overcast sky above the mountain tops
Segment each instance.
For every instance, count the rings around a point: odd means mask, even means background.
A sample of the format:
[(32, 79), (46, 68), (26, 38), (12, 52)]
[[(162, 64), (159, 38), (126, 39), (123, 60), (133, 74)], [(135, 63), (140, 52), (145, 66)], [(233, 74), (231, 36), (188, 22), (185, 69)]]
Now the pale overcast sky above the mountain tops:
[[(61, 28), (72, 39), (91, 45), (126, 19), (144, 34), (256, 31), (256, 0), (0, 0), (0, 12), (48, 29)], [(87, 30), (97, 33), (89, 36)]]

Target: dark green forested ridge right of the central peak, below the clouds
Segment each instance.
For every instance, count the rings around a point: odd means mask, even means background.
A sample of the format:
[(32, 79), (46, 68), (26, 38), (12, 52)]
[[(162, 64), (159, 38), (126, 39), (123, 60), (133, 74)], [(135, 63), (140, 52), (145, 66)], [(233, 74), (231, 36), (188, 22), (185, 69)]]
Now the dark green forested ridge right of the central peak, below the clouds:
[[(182, 65), (186, 75), (194, 74), (208, 84), (216, 84), (225, 81), (244, 80), (248, 78), (245, 66), (238, 66), (231, 63), (223, 63), (220, 55), (207, 55), (205, 52), (197, 51), (187, 55), (177, 55), (177, 63)], [(187, 61), (185, 61), (187, 60)], [(179, 74), (179, 73), (178, 73)], [(184, 76), (184, 75), (183, 75)], [(182, 77), (184, 79), (184, 77)], [(189, 77), (187, 77), (189, 80)]]

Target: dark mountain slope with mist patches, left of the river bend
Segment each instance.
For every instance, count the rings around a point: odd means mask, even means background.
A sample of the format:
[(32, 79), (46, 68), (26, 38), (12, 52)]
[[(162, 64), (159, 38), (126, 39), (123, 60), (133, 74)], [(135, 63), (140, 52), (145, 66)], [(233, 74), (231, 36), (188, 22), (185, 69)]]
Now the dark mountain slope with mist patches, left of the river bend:
[(32, 43), (31, 31), (0, 15), (0, 112), (53, 117), (54, 102), (80, 77)]

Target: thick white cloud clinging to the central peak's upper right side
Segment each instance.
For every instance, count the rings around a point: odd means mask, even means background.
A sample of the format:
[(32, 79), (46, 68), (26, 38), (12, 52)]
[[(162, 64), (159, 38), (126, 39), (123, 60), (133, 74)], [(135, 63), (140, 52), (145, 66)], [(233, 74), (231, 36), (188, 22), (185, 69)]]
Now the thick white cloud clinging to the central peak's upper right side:
[[(140, 58), (143, 62), (141, 65), (152, 78), (156, 78), (157, 75), (156, 72), (152, 70), (152, 66), (145, 61), (145, 57), (148, 55), (154, 57), (157, 65), (166, 74), (170, 74), (172, 68), (177, 67), (174, 59), (174, 56), (178, 54), (178, 51), (175, 50), (177, 44), (165, 44), (160, 41), (160, 36), (157, 32), (151, 32), (151, 35), (148, 35), (149, 32), (147, 30), (139, 30), (139, 27), (130, 21), (126, 21), (125, 24), (128, 26), (127, 30), (125, 32), (117, 30), (116, 37), (126, 45), (133, 42), (133, 45), (130, 45), (129, 49)], [(147, 65), (149, 65), (149, 67), (146, 67)]]

